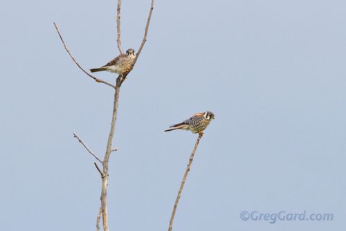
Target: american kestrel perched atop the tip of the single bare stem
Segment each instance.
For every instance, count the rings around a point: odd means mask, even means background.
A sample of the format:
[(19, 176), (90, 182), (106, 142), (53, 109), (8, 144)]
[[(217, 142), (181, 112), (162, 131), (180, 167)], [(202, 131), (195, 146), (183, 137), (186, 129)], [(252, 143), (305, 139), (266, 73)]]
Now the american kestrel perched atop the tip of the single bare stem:
[(203, 135), (203, 130), (209, 125), (210, 121), (215, 118), (214, 113), (211, 111), (196, 113), (188, 120), (184, 120), (179, 124), (174, 124), (165, 131), (172, 131), (175, 129), (184, 129), (192, 131), (192, 133), (200, 133)]

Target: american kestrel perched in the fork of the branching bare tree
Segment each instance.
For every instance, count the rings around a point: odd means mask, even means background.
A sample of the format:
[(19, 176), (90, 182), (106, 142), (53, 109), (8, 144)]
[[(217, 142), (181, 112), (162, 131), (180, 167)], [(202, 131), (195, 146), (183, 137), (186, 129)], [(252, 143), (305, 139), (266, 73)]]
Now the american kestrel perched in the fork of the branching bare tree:
[(113, 73), (118, 73), (119, 75), (123, 75), (129, 71), (131, 71), (131, 64), (134, 62), (134, 58), (136, 57), (134, 49), (126, 50), (125, 54), (118, 55), (114, 59), (112, 59), (109, 63), (100, 68), (92, 68), (91, 72), (98, 71), (109, 71)]

